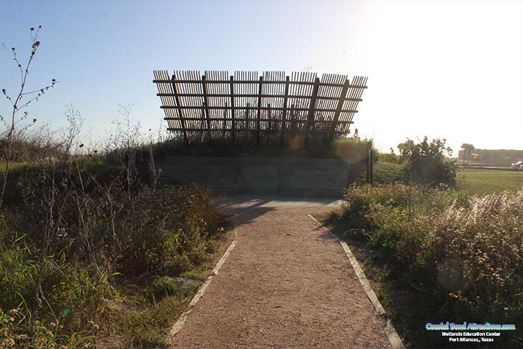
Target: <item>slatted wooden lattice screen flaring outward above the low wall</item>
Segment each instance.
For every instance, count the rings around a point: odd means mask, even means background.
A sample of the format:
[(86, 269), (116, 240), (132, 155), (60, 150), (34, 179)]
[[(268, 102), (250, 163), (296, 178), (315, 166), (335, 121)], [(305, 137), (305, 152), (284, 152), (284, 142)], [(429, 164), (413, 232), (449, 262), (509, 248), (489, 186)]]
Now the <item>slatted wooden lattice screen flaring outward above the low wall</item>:
[(367, 77), (266, 71), (154, 70), (167, 130), (185, 142), (206, 135), (264, 140), (332, 139), (349, 133)]

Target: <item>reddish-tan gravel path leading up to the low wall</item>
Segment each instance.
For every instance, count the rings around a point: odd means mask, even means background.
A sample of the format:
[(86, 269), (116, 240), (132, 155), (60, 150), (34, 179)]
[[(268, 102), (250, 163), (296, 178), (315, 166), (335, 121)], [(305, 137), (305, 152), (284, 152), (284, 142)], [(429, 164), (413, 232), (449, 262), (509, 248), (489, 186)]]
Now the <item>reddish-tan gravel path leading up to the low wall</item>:
[(238, 244), (173, 348), (391, 348), (342, 247), (306, 214), (335, 202), (224, 202)]

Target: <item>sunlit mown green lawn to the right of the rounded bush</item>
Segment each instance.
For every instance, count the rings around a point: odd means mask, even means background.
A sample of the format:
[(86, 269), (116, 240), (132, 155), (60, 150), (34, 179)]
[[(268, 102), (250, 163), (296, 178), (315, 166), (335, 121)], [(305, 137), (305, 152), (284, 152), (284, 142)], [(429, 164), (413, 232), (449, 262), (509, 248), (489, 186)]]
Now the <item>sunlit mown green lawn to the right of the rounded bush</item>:
[(490, 194), (523, 187), (523, 171), (465, 168), (457, 172), (457, 188), (471, 195)]

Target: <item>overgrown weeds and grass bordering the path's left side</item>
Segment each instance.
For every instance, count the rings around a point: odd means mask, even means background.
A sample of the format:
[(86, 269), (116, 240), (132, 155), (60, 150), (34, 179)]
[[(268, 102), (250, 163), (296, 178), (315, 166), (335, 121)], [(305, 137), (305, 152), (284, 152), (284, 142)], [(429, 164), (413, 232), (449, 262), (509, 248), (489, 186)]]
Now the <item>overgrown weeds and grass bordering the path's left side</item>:
[(153, 190), (100, 159), (8, 178), (0, 348), (162, 348), (225, 235), (206, 191)]

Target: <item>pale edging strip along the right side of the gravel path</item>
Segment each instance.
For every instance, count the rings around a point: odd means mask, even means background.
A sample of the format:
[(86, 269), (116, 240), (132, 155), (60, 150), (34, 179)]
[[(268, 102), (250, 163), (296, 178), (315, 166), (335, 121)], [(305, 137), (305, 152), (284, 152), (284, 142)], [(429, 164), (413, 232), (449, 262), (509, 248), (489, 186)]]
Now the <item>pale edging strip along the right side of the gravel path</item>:
[(387, 335), (388, 341), (391, 342), (391, 346), (394, 349), (405, 349), (403, 346), (402, 340), (400, 339), (400, 336), (397, 334), (396, 329), (394, 328), (391, 320), (387, 318), (387, 314), (383, 306), (381, 306), (381, 303), (379, 302), (378, 297), (376, 296), (376, 293), (374, 293), (374, 290), (372, 290), (372, 287), (370, 286), (369, 281), (367, 281), (367, 278), (365, 277), (365, 273), (363, 273), (363, 269), (361, 269), (360, 265), (358, 264), (358, 261), (354, 257), (354, 254), (352, 253), (351, 249), (347, 245), (346, 242), (342, 241), (339, 237), (333, 234), (331, 230), (328, 230), (325, 228), (325, 226), (312, 216), (312, 214), (307, 214), (307, 216), (312, 219), (312, 221), (316, 222), (317, 225), (319, 225), (321, 228), (326, 230), (326, 232), (329, 232), (335, 239), (340, 242), (343, 251), (347, 255), (347, 258), (349, 258), (349, 262), (351, 262), (352, 268), (354, 269), (354, 272), (356, 272), (356, 276), (358, 276), (358, 279), (363, 286), (363, 290), (365, 290), (365, 294), (367, 295), (368, 299), (374, 306), (374, 311), (376, 312), (376, 315), (381, 320), (382, 325), (384, 326), (385, 333)]

